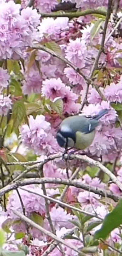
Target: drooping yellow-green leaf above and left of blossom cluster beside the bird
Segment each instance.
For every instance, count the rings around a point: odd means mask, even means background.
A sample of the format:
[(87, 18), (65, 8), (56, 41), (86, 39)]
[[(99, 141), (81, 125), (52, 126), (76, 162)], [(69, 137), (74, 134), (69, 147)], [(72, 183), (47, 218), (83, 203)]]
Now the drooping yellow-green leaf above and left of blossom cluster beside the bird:
[(12, 118), (14, 120), (14, 127), (17, 128), (22, 120), (24, 119), (26, 114), (26, 108), (22, 101), (16, 101), (13, 110), (12, 110)]

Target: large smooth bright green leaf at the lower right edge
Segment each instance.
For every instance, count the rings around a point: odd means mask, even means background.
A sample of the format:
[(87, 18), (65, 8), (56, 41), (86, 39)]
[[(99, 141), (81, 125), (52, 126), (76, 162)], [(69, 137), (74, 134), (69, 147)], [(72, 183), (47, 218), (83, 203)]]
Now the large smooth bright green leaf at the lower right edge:
[(122, 224), (122, 199), (118, 201), (118, 204), (113, 211), (108, 213), (103, 221), (101, 229), (94, 233), (94, 240), (103, 239), (106, 240), (110, 232), (119, 227)]

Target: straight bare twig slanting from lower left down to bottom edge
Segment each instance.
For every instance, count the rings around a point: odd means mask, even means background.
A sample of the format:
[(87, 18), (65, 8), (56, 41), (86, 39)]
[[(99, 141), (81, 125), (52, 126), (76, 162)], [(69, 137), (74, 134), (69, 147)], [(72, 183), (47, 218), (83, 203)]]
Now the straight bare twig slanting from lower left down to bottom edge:
[(41, 231), (42, 233), (44, 233), (46, 236), (50, 236), (52, 239), (58, 241), (59, 243), (64, 244), (65, 246), (71, 248), (72, 250), (76, 251), (77, 253), (79, 253), (79, 255), (81, 256), (86, 256), (86, 254), (84, 254), (81, 251), (78, 251), (77, 248), (75, 246), (73, 246), (71, 243), (67, 243), (66, 241), (64, 241), (63, 239), (59, 238), (58, 236), (52, 234), (50, 231), (42, 228), (41, 226), (39, 226), (37, 223), (33, 222), (32, 220), (30, 220), (29, 218), (25, 217), (22, 213), (20, 213), (19, 211), (16, 210), (12, 210), (13, 213), (15, 215), (17, 215), (21, 220), (27, 222), (28, 224), (30, 224), (32, 227), (38, 229), (39, 231)]

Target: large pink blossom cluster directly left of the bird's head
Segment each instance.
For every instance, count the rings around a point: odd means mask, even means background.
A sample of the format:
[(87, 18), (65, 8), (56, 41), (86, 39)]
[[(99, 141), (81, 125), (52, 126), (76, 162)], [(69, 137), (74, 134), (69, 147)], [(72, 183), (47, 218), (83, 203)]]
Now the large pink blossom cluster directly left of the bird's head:
[(30, 115), (29, 126), (24, 124), (20, 128), (21, 141), (38, 155), (56, 153), (59, 146), (50, 130), (50, 123), (43, 115), (37, 115), (35, 119)]

